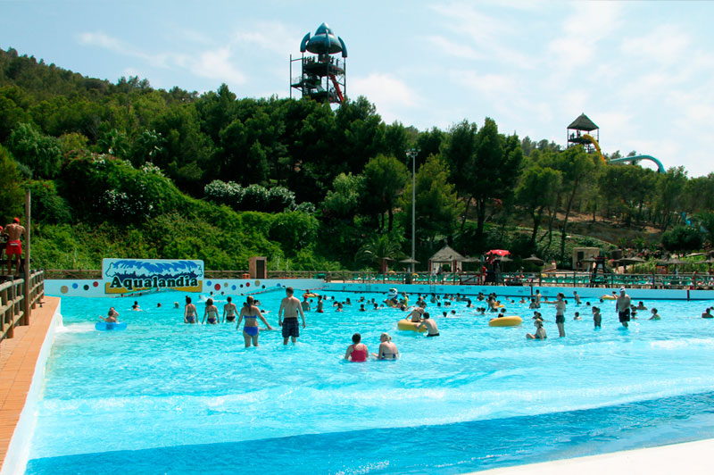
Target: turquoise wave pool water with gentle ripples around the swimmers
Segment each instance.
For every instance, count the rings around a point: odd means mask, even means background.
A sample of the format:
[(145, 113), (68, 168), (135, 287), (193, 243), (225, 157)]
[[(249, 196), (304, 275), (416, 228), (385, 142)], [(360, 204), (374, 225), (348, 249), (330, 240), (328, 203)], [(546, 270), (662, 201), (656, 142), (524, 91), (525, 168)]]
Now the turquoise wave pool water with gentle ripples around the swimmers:
[[(260, 296), (276, 327), (282, 296)], [(27, 473), (460, 473), (714, 437), (707, 302), (646, 302), (662, 321), (629, 330), (611, 302), (600, 330), (570, 302), (562, 339), (544, 305), (544, 342), (462, 303), (429, 305), (436, 338), (396, 330), (397, 310), (327, 306), (297, 346), (275, 331), (246, 350), (235, 325), (182, 324), (181, 294), (133, 300), (62, 298)], [(127, 330), (95, 331), (110, 305)], [(402, 359), (344, 362), (355, 331), (372, 352), (389, 331)]]

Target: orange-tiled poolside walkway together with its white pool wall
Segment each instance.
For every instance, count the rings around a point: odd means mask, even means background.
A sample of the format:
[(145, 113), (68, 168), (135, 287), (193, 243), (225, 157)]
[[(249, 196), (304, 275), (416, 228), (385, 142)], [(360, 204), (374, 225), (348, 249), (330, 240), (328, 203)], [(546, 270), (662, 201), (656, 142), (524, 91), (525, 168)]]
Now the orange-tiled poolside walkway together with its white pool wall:
[(16, 336), (20, 341), (13, 342), (12, 354), (0, 369), (0, 380), (8, 386), (0, 398), (0, 452), (4, 449), (0, 475), (21, 474), (27, 466), (46, 362), (61, 321), (61, 299), (46, 296), (43, 306), (32, 312), (27, 330)]

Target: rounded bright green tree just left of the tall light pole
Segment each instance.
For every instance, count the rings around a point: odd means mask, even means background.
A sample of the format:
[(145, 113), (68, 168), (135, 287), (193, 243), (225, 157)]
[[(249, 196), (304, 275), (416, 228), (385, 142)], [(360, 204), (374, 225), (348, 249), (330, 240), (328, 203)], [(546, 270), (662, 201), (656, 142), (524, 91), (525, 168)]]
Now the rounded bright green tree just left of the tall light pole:
[(406, 165), (392, 156), (378, 154), (365, 165), (362, 175), (364, 176), (364, 203), (373, 210), (374, 214), (381, 215), (379, 232), (385, 228), (384, 213), (387, 213), (389, 219), (386, 230), (391, 232), (394, 206), (409, 179)]

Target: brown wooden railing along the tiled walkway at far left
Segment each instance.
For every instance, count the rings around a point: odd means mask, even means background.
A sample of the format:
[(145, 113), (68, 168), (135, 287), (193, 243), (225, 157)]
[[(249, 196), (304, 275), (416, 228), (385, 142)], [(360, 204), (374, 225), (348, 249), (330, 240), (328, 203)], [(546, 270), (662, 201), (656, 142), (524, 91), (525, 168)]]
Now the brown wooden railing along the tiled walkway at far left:
[[(45, 273), (33, 272), (26, 295), (25, 279), (14, 279), (0, 284), (0, 340), (12, 338), (18, 325), (29, 325), (30, 312), (42, 304), (45, 296)], [(29, 304), (25, 299), (29, 299)]]

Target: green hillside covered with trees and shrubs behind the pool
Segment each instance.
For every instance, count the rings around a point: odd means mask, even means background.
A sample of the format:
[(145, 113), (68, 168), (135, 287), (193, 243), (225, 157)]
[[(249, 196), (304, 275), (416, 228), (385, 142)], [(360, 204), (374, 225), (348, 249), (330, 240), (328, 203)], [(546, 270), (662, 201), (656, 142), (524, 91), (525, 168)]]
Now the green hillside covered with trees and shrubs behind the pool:
[[(458, 118), (454, 118), (458, 120)], [(631, 229), (610, 241), (698, 249), (714, 242), (714, 174), (691, 178), (602, 162), (499, 131), (386, 124), (365, 97), (336, 110), (310, 100), (239, 98), (115, 84), (0, 51), (0, 220), (33, 196), (33, 258), (97, 269), (104, 256), (203, 259), (245, 269), (374, 266), (444, 243), (569, 264), (573, 217)], [(619, 153), (618, 153), (619, 154)], [(637, 233), (638, 229), (657, 232)], [(587, 239), (581, 239), (587, 244)]]

